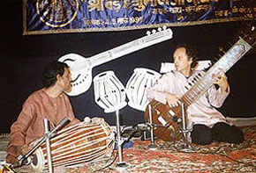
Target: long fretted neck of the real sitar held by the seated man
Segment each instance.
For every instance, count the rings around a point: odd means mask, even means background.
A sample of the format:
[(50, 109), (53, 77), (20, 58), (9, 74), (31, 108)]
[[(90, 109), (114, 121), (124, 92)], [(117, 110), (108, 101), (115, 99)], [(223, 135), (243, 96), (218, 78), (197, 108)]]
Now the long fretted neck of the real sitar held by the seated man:
[(251, 48), (245, 40), (240, 38), (212, 68), (208, 69), (205, 75), (196, 76), (197, 82), (181, 98), (184, 105), (188, 106), (197, 101), (214, 84), (214, 75), (221, 74), (222, 71), (227, 72)]

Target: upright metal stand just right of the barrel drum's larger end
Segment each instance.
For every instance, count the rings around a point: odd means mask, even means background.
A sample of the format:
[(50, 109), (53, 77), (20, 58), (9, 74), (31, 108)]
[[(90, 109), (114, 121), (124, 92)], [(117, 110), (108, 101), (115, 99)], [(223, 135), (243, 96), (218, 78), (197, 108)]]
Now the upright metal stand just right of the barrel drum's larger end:
[(120, 132), (120, 120), (119, 120), (119, 111), (116, 111), (117, 116), (117, 150), (118, 150), (118, 159), (119, 162), (117, 162), (117, 167), (119, 168), (126, 168), (128, 165), (123, 162), (123, 149), (122, 144), (124, 142), (123, 139), (121, 139), (121, 132)]

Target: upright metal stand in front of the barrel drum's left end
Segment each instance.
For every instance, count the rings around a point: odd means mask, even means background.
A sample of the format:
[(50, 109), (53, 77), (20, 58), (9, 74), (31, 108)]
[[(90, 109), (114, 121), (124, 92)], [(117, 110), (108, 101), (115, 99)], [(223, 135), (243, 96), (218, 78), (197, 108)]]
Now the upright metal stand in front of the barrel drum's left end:
[(44, 125), (44, 134), (46, 137), (46, 150), (47, 150), (47, 162), (48, 162), (48, 169), (49, 173), (53, 173), (52, 162), (51, 162), (51, 153), (50, 153), (50, 141), (49, 141), (49, 124), (47, 119), (43, 119)]

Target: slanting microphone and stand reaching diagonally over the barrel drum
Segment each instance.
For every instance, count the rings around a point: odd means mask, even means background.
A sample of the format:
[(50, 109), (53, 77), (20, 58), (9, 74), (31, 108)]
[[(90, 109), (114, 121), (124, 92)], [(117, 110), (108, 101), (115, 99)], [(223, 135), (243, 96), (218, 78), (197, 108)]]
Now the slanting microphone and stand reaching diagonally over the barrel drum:
[(54, 136), (54, 133), (56, 132), (56, 130), (58, 130), (60, 127), (64, 126), (65, 123), (67, 123), (68, 121), (70, 121), (70, 119), (68, 118), (64, 118), (63, 120), (60, 121), (60, 123), (52, 130), (50, 131), (47, 135), (45, 135), (44, 138), (41, 139), (41, 141), (38, 141), (33, 148), (31, 148), (26, 155), (19, 155), (18, 157), (18, 162), (15, 162), (12, 167), (13, 168), (17, 168), (20, 166), (25, 165), (28, 161), (27, 159), (29, 158), (30, 155), (32, 155), (34, 153), (34, 151), (39, 148), (41, 146), (41, 144), (47, 140), (47, 138), (51, 138)]

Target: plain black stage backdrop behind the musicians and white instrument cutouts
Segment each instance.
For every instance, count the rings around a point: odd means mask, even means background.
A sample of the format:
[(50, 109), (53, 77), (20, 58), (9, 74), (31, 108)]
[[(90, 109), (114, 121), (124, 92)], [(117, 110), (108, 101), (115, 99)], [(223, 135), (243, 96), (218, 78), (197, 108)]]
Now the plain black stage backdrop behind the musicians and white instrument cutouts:
[[(122, 32), (80, 32), (43, 35), (22, 35), (22, 2), (3, 0), (0, 5), (0, 132), (10, 132), (22, 105), (34, 90), (41, 89), (44, 66), (64, 54), (80, 54), (85, 58), (143, 37), (147, 29)], [(218, 59), (218, 47), (224, 50), (237, 40), (237, 32), (245, 21), (207, 25), (170, 27), (173, 39), (127, 54), (92, 69), (92, 76), (113, 70), (124, 85), (134, 68), (159, 71), (161, 62), (172, 61), (178, 43), (190, 43), (200, 52), (200, 60)], [(154, 28), (157, 29), (157, 28)], [(230, 42), (230, 43), (229, 43)], [(228, 73), (230, 96), (220, 111), (230, 117), (255, 117), (255, 49), (251, 50)], [(102, 117), (115, 125), (114, 112), (105, 113), (94, 102), (94, 86), (87, 92), (70, 97), (78, 119)], [(128, 101), (126, 97), (126, 101)], [(144, 122), (144, 112), (127, 105), (120, 110), (122, 125)]]

